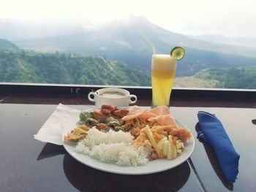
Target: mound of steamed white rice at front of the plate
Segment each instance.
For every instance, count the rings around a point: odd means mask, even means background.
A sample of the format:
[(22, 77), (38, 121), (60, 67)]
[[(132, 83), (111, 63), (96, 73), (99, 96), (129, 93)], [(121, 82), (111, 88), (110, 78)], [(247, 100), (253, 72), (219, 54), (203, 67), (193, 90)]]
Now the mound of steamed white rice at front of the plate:
[(148, 163), (150, 147), (136, 148), (134, 137), (124, 131), (110, 130), (107, 133), (91, 128), (85, 139), (75, 147), (77, 153), (90, 155), (100, 161), (118, 165), (138, 166)]

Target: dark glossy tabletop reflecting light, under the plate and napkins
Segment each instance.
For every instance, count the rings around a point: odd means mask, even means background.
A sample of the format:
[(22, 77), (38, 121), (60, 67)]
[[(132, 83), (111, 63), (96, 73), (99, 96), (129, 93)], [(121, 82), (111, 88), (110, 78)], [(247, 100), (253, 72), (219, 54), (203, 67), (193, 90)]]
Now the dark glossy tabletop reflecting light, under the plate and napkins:
[[(34, 134), (56, 107), (0, 101), (0, 191), (256, 191), (255, 109), (170, 107), (173, 116), (192, 131), (194, 152), (176, 168), (132, 176), (92, 169), (72, 158), (64, 147), (35, 140)], [(236, 183), (225, 181), (214, 151), (196, 139), (199, 110), (217, 115), (241, 155)]]

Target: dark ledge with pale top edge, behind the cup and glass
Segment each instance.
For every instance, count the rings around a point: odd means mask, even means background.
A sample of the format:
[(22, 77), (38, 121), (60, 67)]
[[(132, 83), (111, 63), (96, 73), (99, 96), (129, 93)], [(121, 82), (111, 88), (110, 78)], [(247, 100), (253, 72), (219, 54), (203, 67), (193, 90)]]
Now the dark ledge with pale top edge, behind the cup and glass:
[[(0, 82), (0, 95), (87, 96), (99, 88), (125, 88), (143, 99), (151, 99), (150, 86), (71, 85)], [(173, 88), (171, 99), (223, 99), (256, 101), (256, 90), (223, 88)]]

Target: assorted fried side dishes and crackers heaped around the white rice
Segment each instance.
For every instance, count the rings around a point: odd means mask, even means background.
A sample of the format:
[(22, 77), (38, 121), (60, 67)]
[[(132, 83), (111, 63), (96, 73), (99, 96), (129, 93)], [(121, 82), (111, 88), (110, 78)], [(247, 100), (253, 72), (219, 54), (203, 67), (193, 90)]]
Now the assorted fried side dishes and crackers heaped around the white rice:
[(130, 132), (135, 137), (135, 147), (145, 147), (151, 151), (148, 155), (150, 160), (176, 158), (191, 137), (187, 128), (178, 128), (169, 108), (165, 106), (151, 110), (143, 110), (138, 106), (120, 110), (105, 104), (100, 110), (81, 112), (79, 122), (82, 124), (67, 134), (65, 141), (77, 142), (85, 138), (87, 131), (93, 127), (102, 131), (113, 129)]

